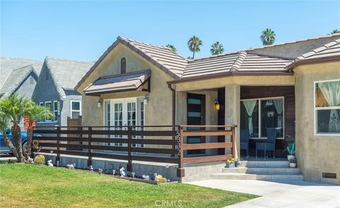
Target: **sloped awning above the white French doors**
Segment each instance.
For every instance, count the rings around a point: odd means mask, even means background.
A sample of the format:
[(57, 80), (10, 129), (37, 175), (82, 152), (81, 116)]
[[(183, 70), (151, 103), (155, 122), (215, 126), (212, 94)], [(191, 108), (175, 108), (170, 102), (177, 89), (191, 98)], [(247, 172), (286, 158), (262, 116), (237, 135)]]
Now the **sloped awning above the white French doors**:
[[(151, 70), (135, 71), (127, 74), (101, 76), (84, 89), (86, 96), (98, 96), (103, 93), (123, 91), (149, 91)], [(148, 83), (148, 88), (142, 86)]]

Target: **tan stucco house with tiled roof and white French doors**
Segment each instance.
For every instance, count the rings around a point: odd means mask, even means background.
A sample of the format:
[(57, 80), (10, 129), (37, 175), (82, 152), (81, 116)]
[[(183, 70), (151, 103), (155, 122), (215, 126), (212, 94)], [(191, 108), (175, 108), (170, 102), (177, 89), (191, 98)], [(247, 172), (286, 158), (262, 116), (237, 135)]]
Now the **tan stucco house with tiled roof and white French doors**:
[[(249, 155), (257, 156), (256, 144), (275, 128), (269, 156), (286, 156), (295, 141), (305, 180), (339, 183), (339, 46), (340, 35), (327, 35), (187, 60), (169, 48), (118, 37), (75, 86), (83, 125), (237, 125), (237, 158), (245, 156), (240, 132), (249, 132)], [(225, 139), (188, 137), (186, 143)]]

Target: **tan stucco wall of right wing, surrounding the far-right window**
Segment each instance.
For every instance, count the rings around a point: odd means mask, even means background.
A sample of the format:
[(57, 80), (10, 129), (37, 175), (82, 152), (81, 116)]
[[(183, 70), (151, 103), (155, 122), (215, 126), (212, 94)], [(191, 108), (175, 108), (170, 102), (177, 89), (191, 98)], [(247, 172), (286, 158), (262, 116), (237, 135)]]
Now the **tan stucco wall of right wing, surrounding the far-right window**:
[[(314, 135), (314, 81), (340, 79), (340, 62), (299, 66), (295, 79), (297, 166), (305, 180), (340, 183), (340, 136)], [(337, 179), (322, 179), (323, 172)]]

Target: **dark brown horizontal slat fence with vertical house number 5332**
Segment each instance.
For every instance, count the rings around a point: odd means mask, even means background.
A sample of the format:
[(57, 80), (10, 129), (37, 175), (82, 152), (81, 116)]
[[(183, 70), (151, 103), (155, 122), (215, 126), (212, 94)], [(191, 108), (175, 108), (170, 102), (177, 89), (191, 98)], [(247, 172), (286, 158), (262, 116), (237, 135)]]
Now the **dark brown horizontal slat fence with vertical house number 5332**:
[[(191, 130), (193, 128), (195, 130)], [(179, 166), (177, 176), (184, 177), (185, 164), (234, 158), (235, 128), (224, 125), (35, 127), (32, 149), (35, 153), (53, 151), (57, 161), (61, 154), (86, 156), (88, 166), (92, 165), (94, 157), (125, 160), (128, 171), (132, 171), (132, 161), (174, 163)], [(186, 144), (186, 137), (193, 136), (227, 136), (230, 139), (225, 142)], [(217, 156), (185, 156), (185, 151), (195, 149), (230, 151)]]

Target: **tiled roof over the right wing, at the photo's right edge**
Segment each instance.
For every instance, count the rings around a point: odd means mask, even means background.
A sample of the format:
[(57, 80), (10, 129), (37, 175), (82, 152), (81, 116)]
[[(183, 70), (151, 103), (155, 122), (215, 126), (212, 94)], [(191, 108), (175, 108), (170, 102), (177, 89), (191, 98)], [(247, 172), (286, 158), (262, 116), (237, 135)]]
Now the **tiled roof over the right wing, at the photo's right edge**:
[(300, 57), (297, 57), (295, 59), (295, 62), (299, 62), (301, 60), (322, 59), (335, 56), (340, 56), (340, 39), (329, 42), (322, 47), (318, 47), (312, 50), (311, 52), (302, 54)]

